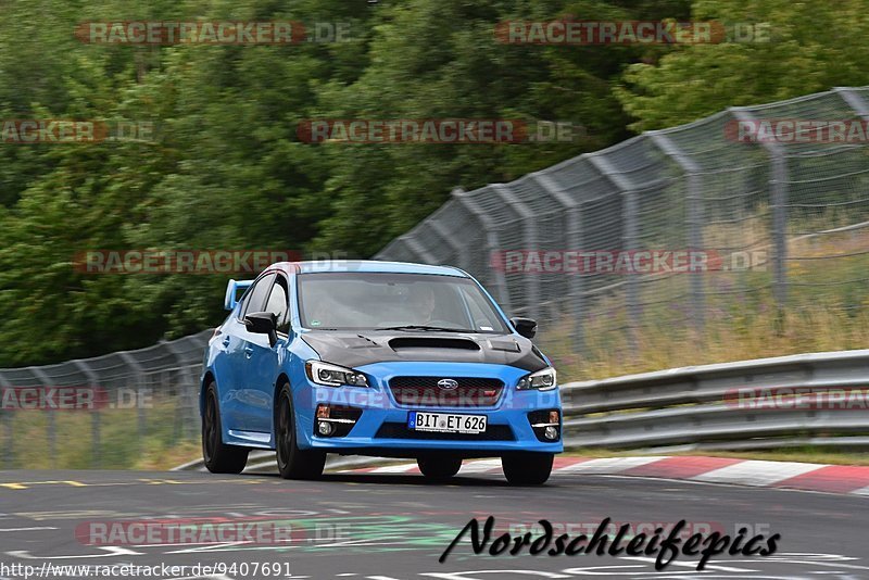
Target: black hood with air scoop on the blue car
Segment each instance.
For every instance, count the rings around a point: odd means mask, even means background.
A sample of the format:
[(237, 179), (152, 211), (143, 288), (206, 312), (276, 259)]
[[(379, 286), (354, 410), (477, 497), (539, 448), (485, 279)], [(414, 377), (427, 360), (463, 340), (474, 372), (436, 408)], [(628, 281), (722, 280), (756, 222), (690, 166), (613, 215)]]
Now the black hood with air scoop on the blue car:
[(301, 339), (323, 361), (348, 367), (436, 361), (509, 365), (533, 373), (549, 366), (530, 340), (515, 335), (311, 330)]

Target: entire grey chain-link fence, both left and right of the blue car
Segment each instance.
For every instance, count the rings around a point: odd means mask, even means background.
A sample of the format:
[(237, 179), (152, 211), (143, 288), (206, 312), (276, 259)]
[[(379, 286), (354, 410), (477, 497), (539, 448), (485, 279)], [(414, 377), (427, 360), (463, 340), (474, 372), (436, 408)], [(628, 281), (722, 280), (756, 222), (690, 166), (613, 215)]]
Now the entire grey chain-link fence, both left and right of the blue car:
[[(798, 121), (817, 125), (801, 135)], [(459, 266), (576, 352), (637, 353), (650, 333), (684, 342), (767, 311), (856, 318), (869, 306), (867, 122), (869, 88), (731, 109), (457, 189), (376, 257)], [(17, 398), (0, 409), (3, 466), (130, 467), (193, 444), (209, 336), (0, 369)], [(52, 411), (63, 387), (101, 404)], [(28, 411), (30, 396), (49, 411)]]

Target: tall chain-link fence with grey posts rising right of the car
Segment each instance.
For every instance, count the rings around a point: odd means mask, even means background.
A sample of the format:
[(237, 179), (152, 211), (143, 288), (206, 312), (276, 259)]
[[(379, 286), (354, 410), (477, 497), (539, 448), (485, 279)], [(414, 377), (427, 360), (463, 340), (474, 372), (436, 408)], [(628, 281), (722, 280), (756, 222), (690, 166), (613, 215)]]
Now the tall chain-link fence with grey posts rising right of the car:
[(739, 316), (855, 316), (869, 305), (868, 91), (734, 108), (456, 189), (376, 257), (457, 265), (576, 352), (637, 353)]

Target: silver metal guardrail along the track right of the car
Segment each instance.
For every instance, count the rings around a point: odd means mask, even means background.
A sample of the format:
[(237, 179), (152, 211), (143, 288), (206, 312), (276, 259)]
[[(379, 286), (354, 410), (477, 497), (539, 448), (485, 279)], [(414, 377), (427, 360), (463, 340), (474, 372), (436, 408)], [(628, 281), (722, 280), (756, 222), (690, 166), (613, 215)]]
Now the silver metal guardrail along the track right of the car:
[[(869, 411), (741, 408), (741, 389), (860, 389), (869, 393), (869, 350), (758, 358), (562, 386), (568, 449), (638, 453), (763, 450), (801, 445), (869, 447)], [(866, 396), (864, 401), (869, 400)], [(336, 458), (327, 468), (380, 464), (382, 457)], [(201, 461), (176, 469), (202, 470)], [(250, 472), (275, 471), (274, 453), (251, 454)]]

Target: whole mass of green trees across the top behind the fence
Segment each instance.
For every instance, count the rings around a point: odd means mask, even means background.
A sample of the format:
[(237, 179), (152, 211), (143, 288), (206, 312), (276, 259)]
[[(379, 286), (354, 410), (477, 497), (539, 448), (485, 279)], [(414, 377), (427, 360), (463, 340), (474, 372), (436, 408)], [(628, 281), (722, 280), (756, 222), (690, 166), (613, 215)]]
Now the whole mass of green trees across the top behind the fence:
[[(630, 130), (866, 83), (867, 2), (35, 0), (0, 7), (0, 118), (152, 121), (152, 142), (0, 144), (0, 366), (143, 346), (216, 324), (224, 276), (96, 276), (93, 249), (367, 257), (455, 186), (504, 181)], [(769, 46), (504, 45), (507, 20), (774, 23)], [(347, 42), (87, 45), (86, 21), (350, 24)], [(834, 30), (834, 34), (832, 33)], [(567, 143), (301, 142), (311, 118), (568, 121)], [(630, 127), (630, 128), (629, 128)]]

